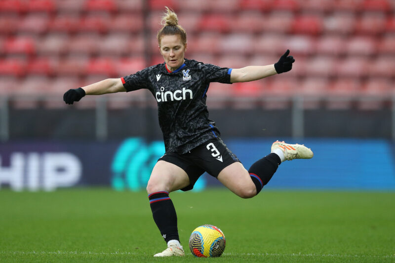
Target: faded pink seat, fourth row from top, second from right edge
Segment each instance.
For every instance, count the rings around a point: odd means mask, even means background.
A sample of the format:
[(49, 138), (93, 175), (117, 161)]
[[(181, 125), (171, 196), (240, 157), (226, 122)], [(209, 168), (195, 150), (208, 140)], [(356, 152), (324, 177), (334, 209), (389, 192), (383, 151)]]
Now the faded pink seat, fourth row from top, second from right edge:
[(361, 77), (368, 73), (368, 60), (364, 57), (348, 57), (337, 62), (336, 74), (347, 77)]

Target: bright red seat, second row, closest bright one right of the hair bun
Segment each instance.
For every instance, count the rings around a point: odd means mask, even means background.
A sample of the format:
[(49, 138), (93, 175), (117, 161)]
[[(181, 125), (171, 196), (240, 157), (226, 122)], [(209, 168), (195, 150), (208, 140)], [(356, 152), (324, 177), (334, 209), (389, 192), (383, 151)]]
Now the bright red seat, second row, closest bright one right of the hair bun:
[(211, 31), (227, 33), (229, 32), (232, 17), (224, 14), (204, 15), (198, 23), (199, 31)]

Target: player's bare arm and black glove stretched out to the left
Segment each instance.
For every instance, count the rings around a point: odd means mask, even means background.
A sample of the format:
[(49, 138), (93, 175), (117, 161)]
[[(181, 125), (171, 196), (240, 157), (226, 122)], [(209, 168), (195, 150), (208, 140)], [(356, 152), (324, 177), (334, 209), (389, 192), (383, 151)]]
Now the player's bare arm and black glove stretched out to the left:
[(85, 95), (102, 95), (107, 93), (125, 92), (120, 78), (107, 78), (105, 80), (77, 88), (69, 89), (64, 95), (63, 100), (66, 104), (73, 104)]

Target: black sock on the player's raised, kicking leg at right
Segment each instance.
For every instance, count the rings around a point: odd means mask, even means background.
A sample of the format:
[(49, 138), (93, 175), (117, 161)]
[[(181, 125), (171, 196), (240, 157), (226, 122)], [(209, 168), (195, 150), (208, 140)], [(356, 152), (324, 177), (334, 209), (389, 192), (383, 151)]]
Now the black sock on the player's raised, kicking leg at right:
[(252, 182), (255, 184), (256, 194), (272, 179), (280, 164), (280, 157), (272, 152), (251, 165), (248, 172), (250, 173)]

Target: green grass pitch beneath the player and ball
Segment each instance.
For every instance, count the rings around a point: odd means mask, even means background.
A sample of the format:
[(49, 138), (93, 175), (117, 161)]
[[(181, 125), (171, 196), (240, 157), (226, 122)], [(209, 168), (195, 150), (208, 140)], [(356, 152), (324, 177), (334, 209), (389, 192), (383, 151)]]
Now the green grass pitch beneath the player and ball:
[[(165, 249), (145, 192), (0, 190), (0, 262), (395, 262), (395, 192), (227, 189), (170, 194), (183, 258)], [(221, 228), (224, 254), (195, 258), (199, 225)]]

